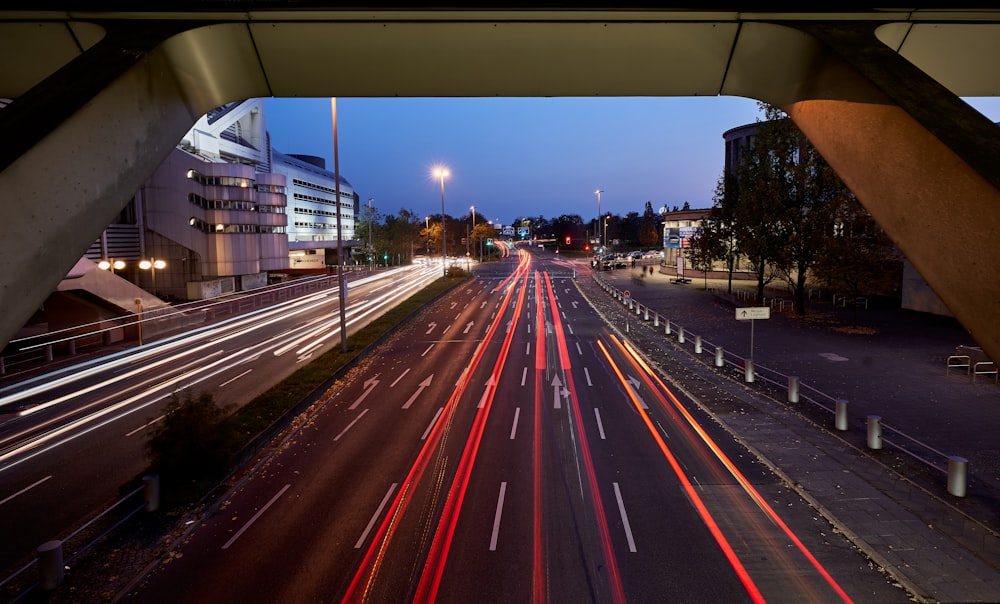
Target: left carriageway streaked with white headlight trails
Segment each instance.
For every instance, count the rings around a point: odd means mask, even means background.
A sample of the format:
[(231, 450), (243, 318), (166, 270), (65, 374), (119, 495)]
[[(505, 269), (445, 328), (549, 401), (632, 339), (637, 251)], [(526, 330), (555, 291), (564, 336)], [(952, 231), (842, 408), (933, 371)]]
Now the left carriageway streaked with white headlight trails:
[[(351, 281), (348, 333), (440, 273), (420, 266)], [(172, 394), (210, 391), (221, 405), (244, 404), (340, 346), (336, 285), (274, 294), (265, 307), (0, 388), (0, 568), (118, 499), (146, 468), (146, 436)]]

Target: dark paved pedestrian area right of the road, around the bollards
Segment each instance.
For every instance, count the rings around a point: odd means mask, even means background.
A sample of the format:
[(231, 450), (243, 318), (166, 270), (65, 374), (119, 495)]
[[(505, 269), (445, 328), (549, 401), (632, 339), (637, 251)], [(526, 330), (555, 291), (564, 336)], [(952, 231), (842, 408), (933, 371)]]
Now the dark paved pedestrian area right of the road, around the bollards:
[[(737, 321), (735, 309), (755, 306), (752, 298), (730, 295), (725, 281), (675, 283), (673, 274), (638, 267), (593, 273), (648, 307), (646, 320), (591, 275), (581, 264), (577, 281), (609, 322), (619, 329), (628, 322), (647, 352), (669, 351), (672, 366), (725, 380), (728, 395), (753, 405), (759, 412), (713, 412), (920, 601), (1000, 602), (1000, 385), (947, 370), (957, 346), (975, 345), (956, 321), (812, 301), (805, 317), (786, 305), (751, 325)], [(780, 384), (747, 384), (745, 372), (714, 368), (716, 346), (752, 359), (762, 373), (797, 376), (803, 396), (828, 407), (789, 403)], [(846, 430), (836, 426), (836, 400), (845, 401)], [(873, 416), (884, 428), (878, 450), (868, 446)], [(964, 496), (950, 492), (952, 457), (967, 460)]]

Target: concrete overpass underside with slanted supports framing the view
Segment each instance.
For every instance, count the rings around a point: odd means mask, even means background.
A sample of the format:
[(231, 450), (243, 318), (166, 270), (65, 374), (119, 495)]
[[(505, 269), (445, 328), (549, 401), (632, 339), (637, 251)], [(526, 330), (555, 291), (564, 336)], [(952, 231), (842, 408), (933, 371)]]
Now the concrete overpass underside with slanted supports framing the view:
[(960, 99), (1000, 93), (998, 11), (266, 4), (0, 11), (3, 342), (224, 103), (731, 95), (785, 110), (1000, 359), (1000, 133)]

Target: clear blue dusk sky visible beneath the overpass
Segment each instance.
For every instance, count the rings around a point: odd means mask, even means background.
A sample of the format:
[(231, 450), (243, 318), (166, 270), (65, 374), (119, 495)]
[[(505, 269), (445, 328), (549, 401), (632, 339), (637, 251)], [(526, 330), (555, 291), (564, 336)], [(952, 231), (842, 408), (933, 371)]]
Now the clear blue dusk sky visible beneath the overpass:
[[(1000, 98), (967, 99), (1000, 121)], [(271, 144), (318, 155), (333, 170), (329, 98), (267, 99)], [(384, 213), (469, 213), (503, 224), (642, 212), (646, 201), (712, 205), (722, 134), (752, 123), (757, 102), (738, 97), (339, 98), (340, 173)]]

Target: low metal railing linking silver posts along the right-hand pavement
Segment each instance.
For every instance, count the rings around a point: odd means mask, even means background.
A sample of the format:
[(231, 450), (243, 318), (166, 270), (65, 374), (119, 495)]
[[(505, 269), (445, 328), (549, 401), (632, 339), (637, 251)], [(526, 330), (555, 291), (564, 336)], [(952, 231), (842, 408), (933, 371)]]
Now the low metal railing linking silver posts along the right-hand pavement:
[[(663, 335), (673, 336), (681, 348), (684, 348), (690, 342), (693, 345), (695, 358), (702, 359), (706, 364), (711, 363), (715, 368), (720, 370), (725, 370), (728, 367), (738, 375), (742, 375), (746, 383), (761, 380), (779, 390), (785, 390), (787, 392), (788, 403), (794, 404), (805, 401), (823, 411), (831, 413), (834, 416), (834, 427), (837, 430), (846, 431), (849, 429), (847, 400), (820, 392), (816, 388), (802, 383), (799, 376), (785, 375), (775, 369), (757, 365), (752, 359), (743, 358), (728, 352), (722, 346), (713, 344), (702, 336), (686, 330), (680, 323), (672, 321), (668, 317), (661, 316), (655, 309), (643, 305), (631, 296), (624, 295), (624, 292), (604, 281), (598, 275), (595, 274), (593, 279), (612, 298), (620, 301), (630, 311), (634, 310), (636, 315), (643, 317), (646, 322), (651, 323), (652, 327), (657, 328), (662, 326)], [(865, 300), (865, 304), (867, 305), (867, 300)], [(626, 322), (626, 332), (628, 329), (628, 323)], [(710, 361), (704, 361), (705, 356), (703, 356), (703, 352), (706, 348), (715, 351)], [(976, 365), (983, 365), (983, 363), (977, 363)], [(993, 364), (989, 363), (989, 365), (992, 366)], [(954, 366), (962, 367), (963, 365), (956, 364)], [(950, 367), (951, 365), (949, 364)], [(984, 366), (979, 371), (979, 375), (993, 375), (994, 380), (997, 379), (995, 366), (992, 368)], [(975, 379), (975, 375), (974, 371), (973, 379)], [(803, 391), (806, 394), (803, 394)], [(884, 432), (886, 430), (893, 435), (893, 438), (885, 438)], [(966, 495), (968, 461), (965, 458), (942, 453), (934, 447), (903, 433), (891, 424), (886, 424), (880, 416), (869, 416), (867, 418), (867, 432), (867, 444), (870, 449), (881, 449), (883, 442), (890, 444), (910, 458), (944, 473), (947, 478), (948, 493), (956, 497), (964, 497)], [(942, 465), (942, 462), (944, 462), (944, 465)]]

